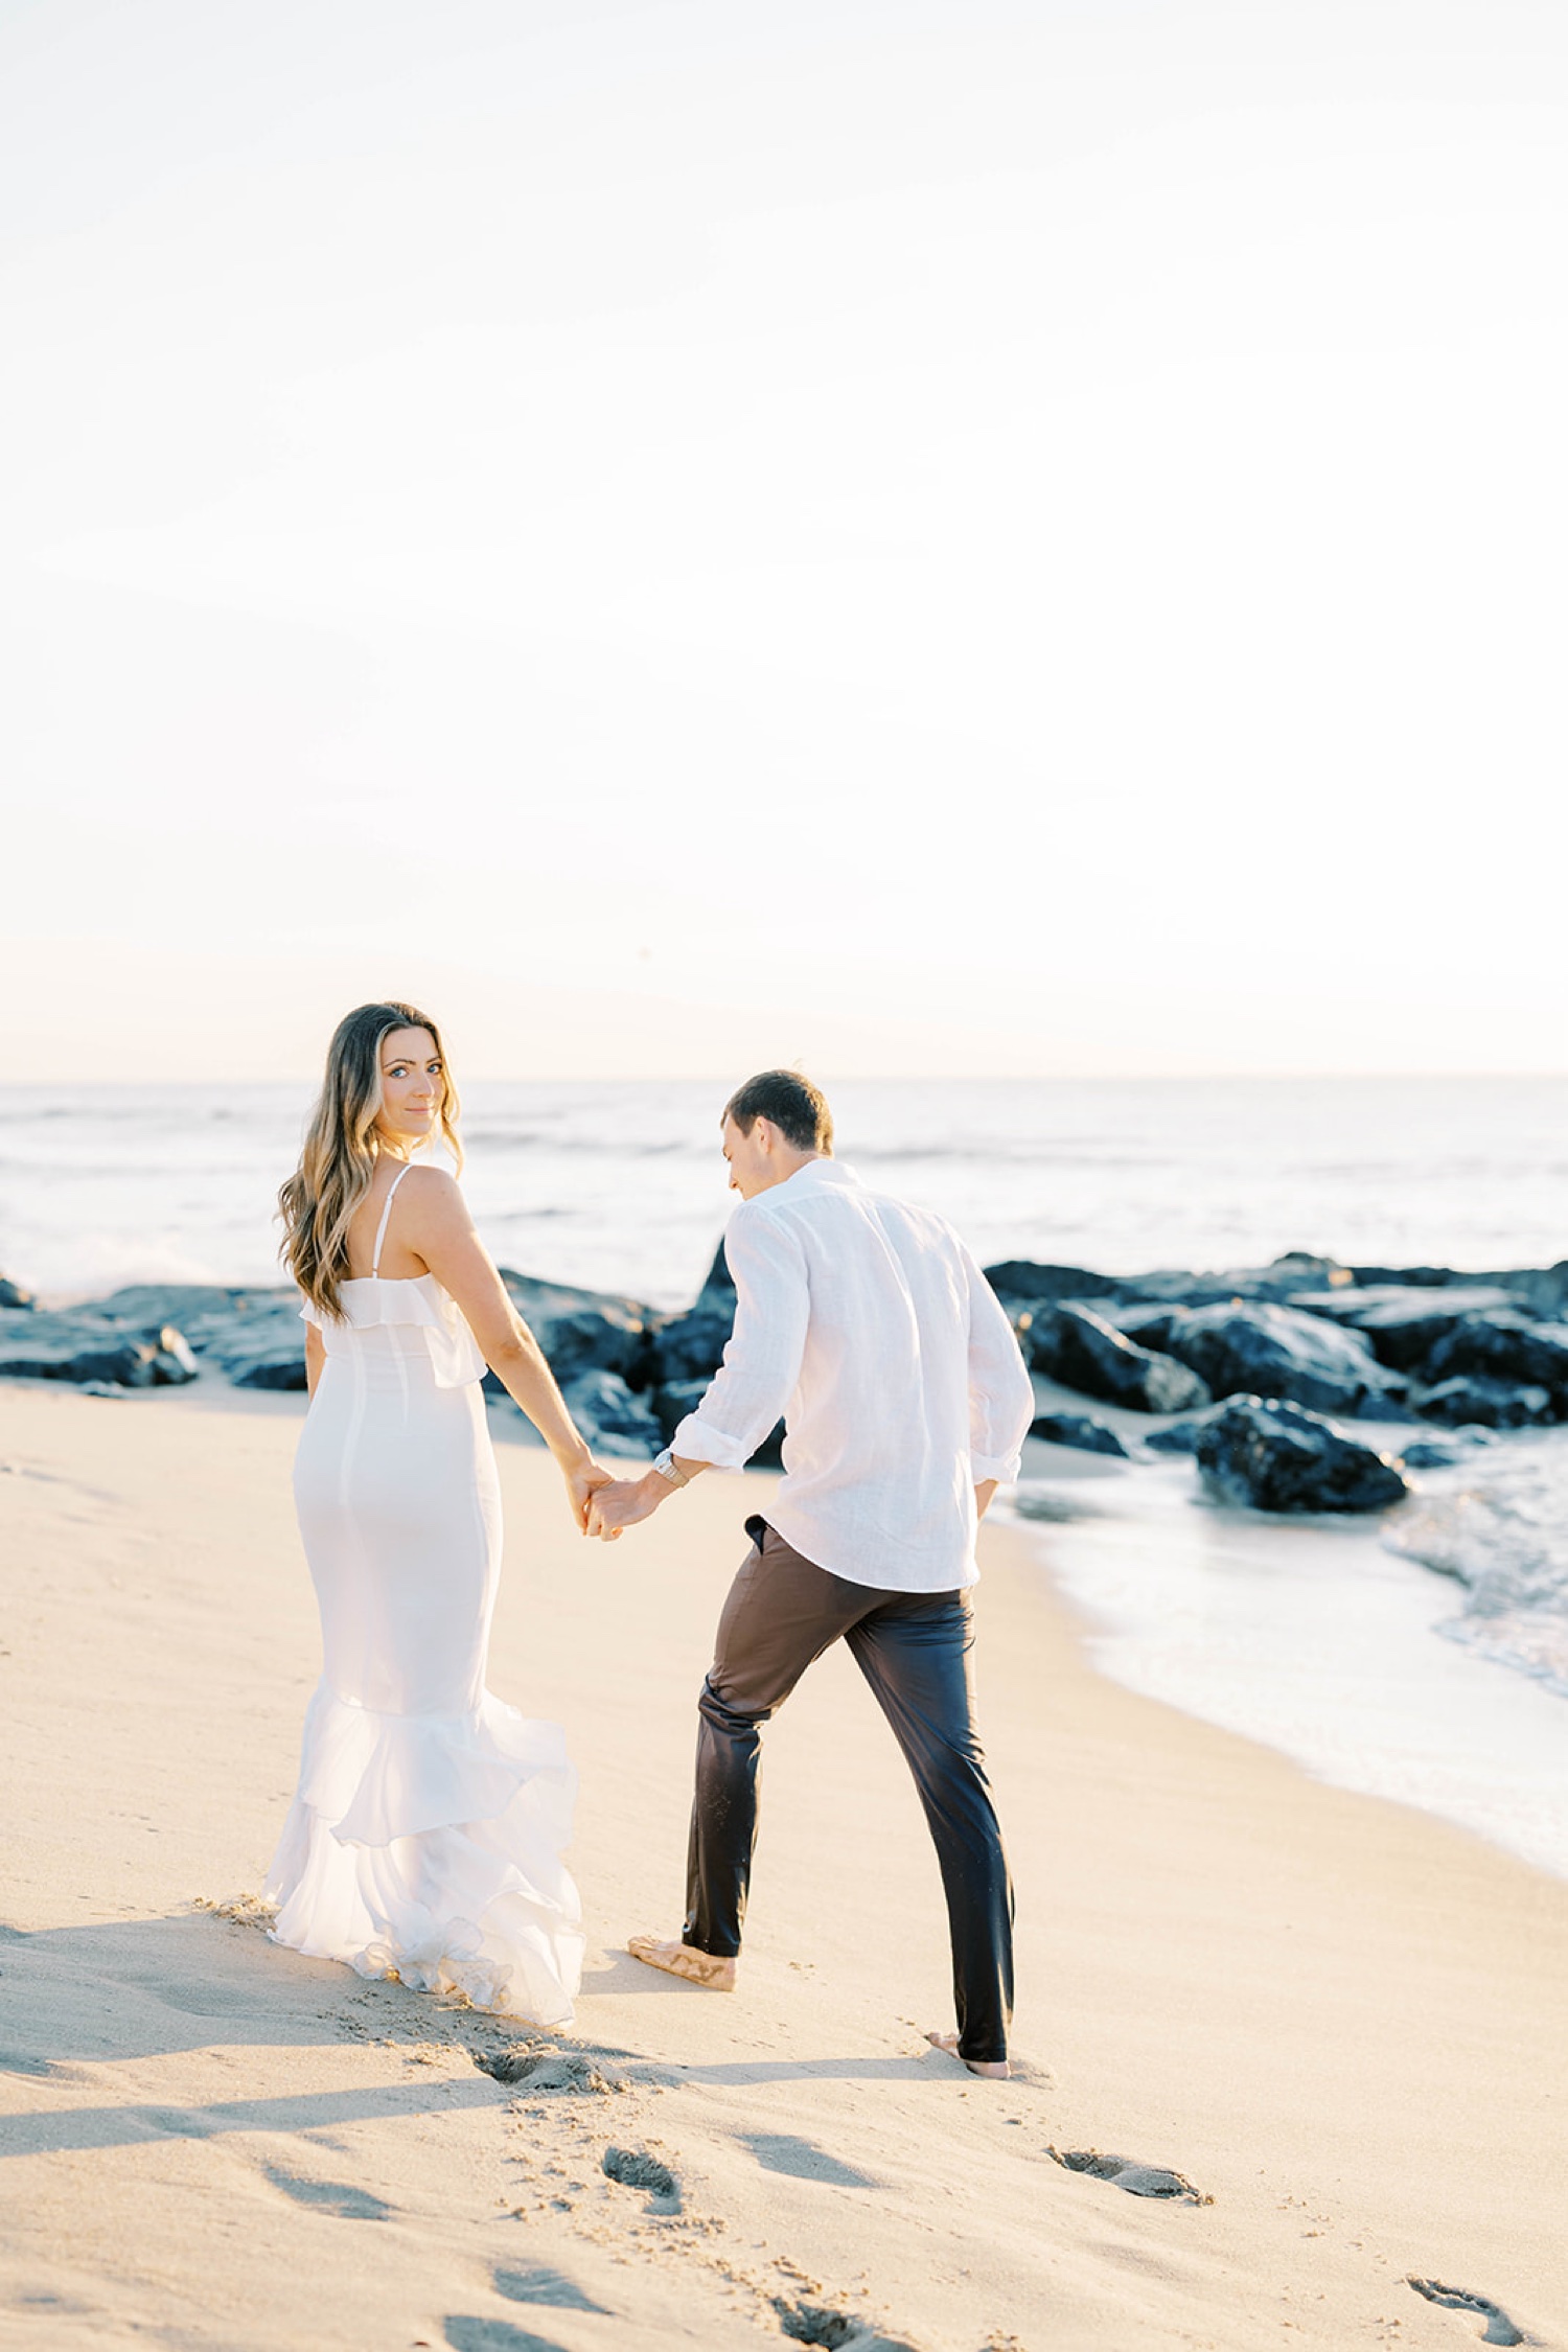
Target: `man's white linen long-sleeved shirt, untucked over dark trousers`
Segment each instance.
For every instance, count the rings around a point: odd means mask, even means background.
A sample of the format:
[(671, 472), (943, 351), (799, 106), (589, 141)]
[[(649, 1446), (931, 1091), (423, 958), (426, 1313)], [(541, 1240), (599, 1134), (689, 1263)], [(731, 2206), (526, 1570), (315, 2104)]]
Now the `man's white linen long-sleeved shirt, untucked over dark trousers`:
[(973, 1585), (976, 1486), (1018, 1477), (1034, 1390), (957, 1232), (806, 1160), (736, 1209), (724, 1256), (736, 1327), (672, 1454), (741, 1470), (783, 1414), (785, 1543), (889, 1592)]

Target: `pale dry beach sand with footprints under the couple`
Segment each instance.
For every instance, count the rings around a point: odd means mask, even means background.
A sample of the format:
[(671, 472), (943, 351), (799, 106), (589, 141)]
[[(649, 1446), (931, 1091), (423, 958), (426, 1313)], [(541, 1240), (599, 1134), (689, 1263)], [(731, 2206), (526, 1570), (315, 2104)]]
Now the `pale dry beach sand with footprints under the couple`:
[(679, 1924), (693, 1693), (764, 1479), (590, 1548), (501, 1444), (491, 1684), (583, 1771), (571, 2039), (270, 1945), (223, 1905), (317, 1672), (296, 1430), (289, 1397), (0, 1392), (0, 2343), (1481, 2340), (1418, 2274), (1568, 2345), (1568, 1884), (1103, 1682), (1009, 1529), (980, 1703), (1018, 2082), (922, 2042), (950, 2023), (936, 1863), (846, 1656), (769, 1733), (741, 1992), (621, 1950)]

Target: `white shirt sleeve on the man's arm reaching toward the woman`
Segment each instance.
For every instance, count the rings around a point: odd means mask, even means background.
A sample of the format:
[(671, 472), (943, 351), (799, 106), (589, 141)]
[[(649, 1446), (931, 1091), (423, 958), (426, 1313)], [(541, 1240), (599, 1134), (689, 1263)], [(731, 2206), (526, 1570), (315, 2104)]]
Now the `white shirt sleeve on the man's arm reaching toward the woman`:
[(715, 1470), (743, 1470), (799, 1383), (811, 1287), (797, 1237), (750, 1202), (729, 1221), (724, 1256), (736, 1282), (736, 1322), (724, 1362), (675, 1430), (670, 1451)]

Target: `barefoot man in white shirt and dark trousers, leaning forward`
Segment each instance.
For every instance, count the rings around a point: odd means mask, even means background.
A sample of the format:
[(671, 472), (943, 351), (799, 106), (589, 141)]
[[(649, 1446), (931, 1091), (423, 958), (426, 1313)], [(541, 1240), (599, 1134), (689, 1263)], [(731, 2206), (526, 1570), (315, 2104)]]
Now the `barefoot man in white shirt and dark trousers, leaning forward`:
[(1006, 2074), (1013, 1889), (973, 1722), (976, 1522), (1018, 1477), (1030, 1376), (990, 1284), (924, 1209), (832, 1157), (827, 1103), (764, 1070), (724, 1105), (741, 1192), (724, 1254), (736, 1327), (703, 1402), (642, 1479), (602, 1486), (590, 1536), (614, 1541), (701, 1470), (741, 1470), (785, 1416), (785, 1477), (719, 1618), (698, 1700), (686, 1924), (635, 1936), (654, 1969), (733, 1990), (757, 1835), (759, 1724), (837, 1639), (905, 1752), (936, 1842), (952, 1929), (957, 2034), (976, 2074)]

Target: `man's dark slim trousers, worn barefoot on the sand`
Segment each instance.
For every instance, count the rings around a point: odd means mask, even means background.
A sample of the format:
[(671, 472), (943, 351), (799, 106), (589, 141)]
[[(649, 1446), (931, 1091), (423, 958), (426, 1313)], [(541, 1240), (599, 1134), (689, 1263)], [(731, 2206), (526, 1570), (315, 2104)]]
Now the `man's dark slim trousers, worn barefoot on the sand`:
[[(682, 1943), (733, 1957), (757, 1844), (759, 1724), (832, 1642), (849, 1642), (905, 1752), (936, 1842), (964, 2058), (1006, 2058), (1013, 1884), (973, 1708), (969, 1592), (886, 1592), (830, 1576), (764, 1519), (719, 1618), (698, 1700)], [(846, 1872), (853, 1867), (846, 1858)]]

